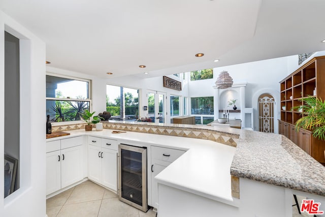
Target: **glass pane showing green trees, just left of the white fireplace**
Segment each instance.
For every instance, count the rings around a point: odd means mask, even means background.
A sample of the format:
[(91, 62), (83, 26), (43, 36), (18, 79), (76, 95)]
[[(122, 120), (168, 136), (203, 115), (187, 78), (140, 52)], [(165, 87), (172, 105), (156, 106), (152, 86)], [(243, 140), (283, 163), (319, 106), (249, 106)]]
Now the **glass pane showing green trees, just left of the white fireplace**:
[(191, 114), (213, 114), (213, 97), (191, 98)]

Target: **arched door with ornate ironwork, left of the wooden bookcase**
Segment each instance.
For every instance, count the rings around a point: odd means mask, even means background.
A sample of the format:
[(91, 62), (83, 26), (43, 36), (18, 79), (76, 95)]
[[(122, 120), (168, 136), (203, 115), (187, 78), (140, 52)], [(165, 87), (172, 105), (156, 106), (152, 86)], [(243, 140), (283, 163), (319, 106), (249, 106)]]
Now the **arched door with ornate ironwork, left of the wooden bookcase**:
[(274, 98), (263, 94), (258, 98), (259, 131), (274, 133)]

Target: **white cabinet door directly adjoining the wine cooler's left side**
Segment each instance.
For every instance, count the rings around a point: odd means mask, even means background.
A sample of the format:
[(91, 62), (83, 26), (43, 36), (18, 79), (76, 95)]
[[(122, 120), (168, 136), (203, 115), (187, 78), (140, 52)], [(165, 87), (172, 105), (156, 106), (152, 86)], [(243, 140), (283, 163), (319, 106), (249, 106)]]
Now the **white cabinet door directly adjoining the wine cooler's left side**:
[(117, 151), (102, 148), (102, 184), (117, 192)]

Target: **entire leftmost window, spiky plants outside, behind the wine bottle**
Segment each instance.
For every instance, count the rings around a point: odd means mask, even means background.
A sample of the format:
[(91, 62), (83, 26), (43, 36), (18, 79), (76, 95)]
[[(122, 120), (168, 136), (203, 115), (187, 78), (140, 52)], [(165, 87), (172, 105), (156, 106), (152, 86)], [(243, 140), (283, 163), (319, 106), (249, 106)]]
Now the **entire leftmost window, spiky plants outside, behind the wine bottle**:
[(81, 120), (90, 110), (89, 80), (46, 75), (46, 114), (51, 122)]

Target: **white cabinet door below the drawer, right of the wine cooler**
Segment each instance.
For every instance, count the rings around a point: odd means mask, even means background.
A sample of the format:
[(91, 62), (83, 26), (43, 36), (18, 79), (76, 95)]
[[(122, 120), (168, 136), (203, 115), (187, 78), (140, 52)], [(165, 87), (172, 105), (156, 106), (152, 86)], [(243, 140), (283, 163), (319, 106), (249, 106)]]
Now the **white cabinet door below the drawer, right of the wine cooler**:
[(170, 162), (151, 159), (151, 206), (158, 208), (158, 182), (154, 179)]

